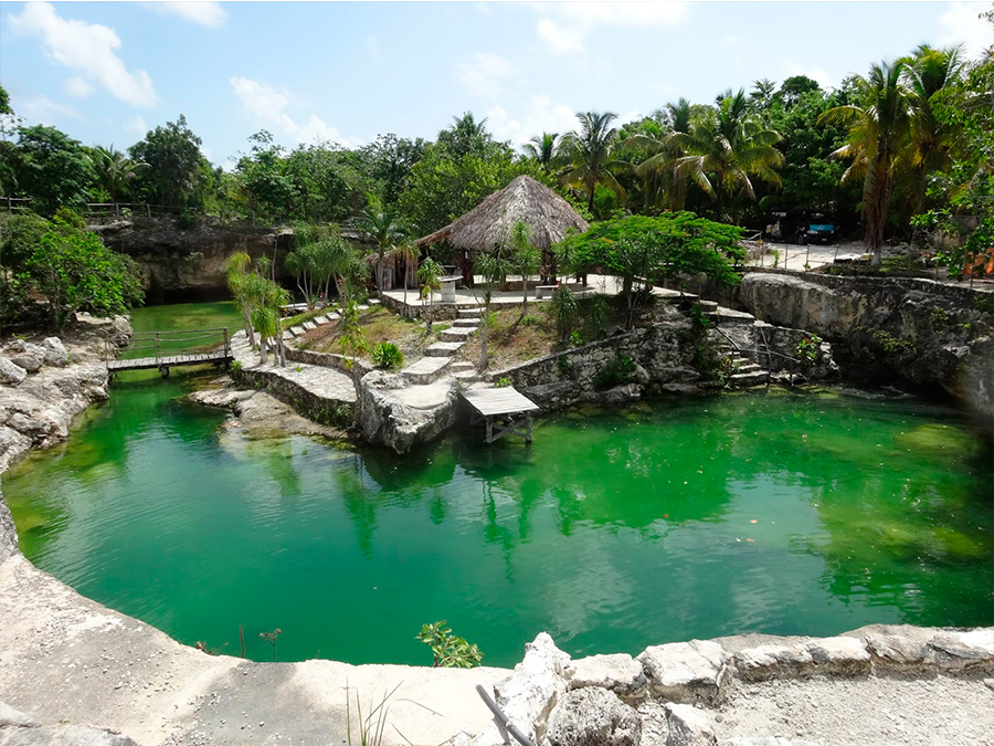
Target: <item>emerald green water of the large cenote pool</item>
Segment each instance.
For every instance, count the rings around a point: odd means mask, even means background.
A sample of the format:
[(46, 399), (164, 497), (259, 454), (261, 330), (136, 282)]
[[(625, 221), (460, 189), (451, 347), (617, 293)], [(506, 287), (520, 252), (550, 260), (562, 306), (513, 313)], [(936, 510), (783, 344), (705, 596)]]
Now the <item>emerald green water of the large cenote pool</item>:
[(446, 619), (512, 665), (542, 630), (583, 655), (994, 623), (991, 449), (942, 407), (666, 399), (542, 419), (530, 448), (466, 432), (396, 456), (248, 441), (179, 400), (203, 380), (118, 381), (3, 480), (32, 561), (189, 644), (236, 655), (241, 624), (256, 660), (279, 628), (284, 661), (429, 664), (414, 635)]

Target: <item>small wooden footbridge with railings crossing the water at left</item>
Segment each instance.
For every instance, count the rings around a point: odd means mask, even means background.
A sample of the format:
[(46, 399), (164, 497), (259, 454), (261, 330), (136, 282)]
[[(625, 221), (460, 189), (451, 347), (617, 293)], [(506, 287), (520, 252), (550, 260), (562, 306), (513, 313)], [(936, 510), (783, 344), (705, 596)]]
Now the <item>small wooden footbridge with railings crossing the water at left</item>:
[[(193, 343), (191, 345), (191, 343)], [(191, 349), (190, 347), (193, 347)], [(207, 349), (204, 349), (207, 348)], [(107, 370), (151, 370), (158, 368), (162, 378), (176, 366), (228, 365), (231, 363), (231, 340), (228, 327), (218, 329), (177, 329), (173, 332), (139, 332), (131, 336), (128, 354), (149, 353), (144, 357), (113, 359), (116, 347), (108, 340), (105, 347)], [(203, 351), (194, 351), (203, 350)]]

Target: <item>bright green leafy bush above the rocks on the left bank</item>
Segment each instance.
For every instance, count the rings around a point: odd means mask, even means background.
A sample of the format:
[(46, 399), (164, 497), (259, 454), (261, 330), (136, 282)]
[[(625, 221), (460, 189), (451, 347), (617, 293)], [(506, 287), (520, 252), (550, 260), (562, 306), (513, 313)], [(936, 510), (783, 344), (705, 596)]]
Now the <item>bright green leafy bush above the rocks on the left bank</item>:
[(44, 296), (60, 329), (77, 311), (123, 314), (144, 297), (134, 260), (107, 249), (95, 233), (57, 220), (39, 238), (20, 280)]

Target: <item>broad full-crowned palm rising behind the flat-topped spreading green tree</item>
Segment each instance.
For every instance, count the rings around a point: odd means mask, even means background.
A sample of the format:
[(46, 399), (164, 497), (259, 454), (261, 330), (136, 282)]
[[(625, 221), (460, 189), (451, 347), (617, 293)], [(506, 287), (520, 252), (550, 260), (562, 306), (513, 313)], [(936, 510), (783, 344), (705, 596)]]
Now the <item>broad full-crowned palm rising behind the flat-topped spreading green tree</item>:
[(750, 111), (744, 90), (729, 94), (667, 143), (684, 154), (669, 161), (676, 177), (689, 179), (713, 199), (719, 220), (728, 196), (743, 192), (755, 199), (751, 176), (780, 186), (773, 168), (783, 164), (783, 155), (773, 147), (783, 139), (780, 133), (766, 129)]

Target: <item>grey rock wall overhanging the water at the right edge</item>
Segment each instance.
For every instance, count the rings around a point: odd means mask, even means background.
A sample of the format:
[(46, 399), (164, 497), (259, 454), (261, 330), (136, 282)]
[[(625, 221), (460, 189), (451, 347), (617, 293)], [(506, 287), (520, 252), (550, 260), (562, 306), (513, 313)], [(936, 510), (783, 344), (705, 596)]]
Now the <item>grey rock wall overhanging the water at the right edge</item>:
[(848, 375), (941, 387), (994, 421), (991, 291), (918, 279), (750, 272), (736, 288), (702, 295), (833, 343)]

